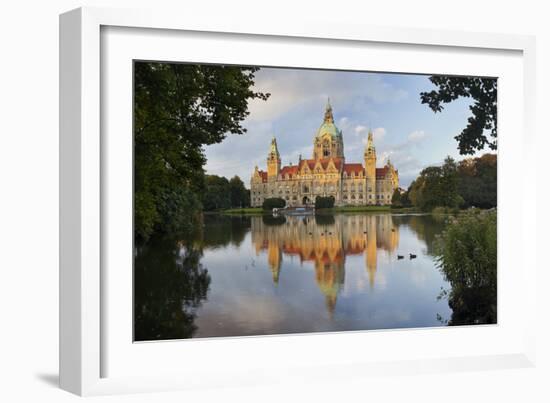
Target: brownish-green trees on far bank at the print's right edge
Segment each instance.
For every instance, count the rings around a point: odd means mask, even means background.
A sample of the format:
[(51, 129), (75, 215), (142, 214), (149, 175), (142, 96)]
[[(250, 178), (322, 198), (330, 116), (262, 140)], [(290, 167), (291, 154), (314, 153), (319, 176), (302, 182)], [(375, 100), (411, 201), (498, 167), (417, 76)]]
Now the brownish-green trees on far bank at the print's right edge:
[(458, 164), (458, 189), (465, 207), (491, 208), (497, 205), (497, 156), (484, 154)]

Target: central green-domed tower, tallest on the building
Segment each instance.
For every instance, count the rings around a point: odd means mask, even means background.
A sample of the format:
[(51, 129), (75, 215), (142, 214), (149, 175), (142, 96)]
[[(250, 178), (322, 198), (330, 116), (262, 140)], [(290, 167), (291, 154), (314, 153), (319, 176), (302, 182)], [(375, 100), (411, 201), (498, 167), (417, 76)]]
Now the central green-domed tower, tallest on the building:
[(330, 99), (327, 100), (323, 123), (313, 139), (313, 159), (344, 158), (342, 131), (334, 124)]

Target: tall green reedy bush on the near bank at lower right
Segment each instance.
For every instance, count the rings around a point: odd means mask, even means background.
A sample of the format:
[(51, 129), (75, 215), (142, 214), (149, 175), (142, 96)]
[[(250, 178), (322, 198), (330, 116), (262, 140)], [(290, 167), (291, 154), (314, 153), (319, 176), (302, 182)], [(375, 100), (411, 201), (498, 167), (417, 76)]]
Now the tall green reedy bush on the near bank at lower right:
[(436, 241), (438, 265), (451, 289), (450, 325), (496, 323), (497, 211), (468, 210)]

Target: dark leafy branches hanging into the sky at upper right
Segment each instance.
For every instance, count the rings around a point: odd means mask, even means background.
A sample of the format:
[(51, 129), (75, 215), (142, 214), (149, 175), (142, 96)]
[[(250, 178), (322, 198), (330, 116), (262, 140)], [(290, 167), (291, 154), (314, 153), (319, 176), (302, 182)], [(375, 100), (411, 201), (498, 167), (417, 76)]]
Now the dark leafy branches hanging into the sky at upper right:
[[(420, 93), (423, 104), (434, 112), (441, 112), (443, 104), (460, 97), (472, 98), (472, 116), (455, 139), (460, 154), (474, 154), (488, 146), (497, 149), (497, 80), (481, 77), (431, 76), (438, 89)], [(486, 134), (489, 131), (489, 134)]]

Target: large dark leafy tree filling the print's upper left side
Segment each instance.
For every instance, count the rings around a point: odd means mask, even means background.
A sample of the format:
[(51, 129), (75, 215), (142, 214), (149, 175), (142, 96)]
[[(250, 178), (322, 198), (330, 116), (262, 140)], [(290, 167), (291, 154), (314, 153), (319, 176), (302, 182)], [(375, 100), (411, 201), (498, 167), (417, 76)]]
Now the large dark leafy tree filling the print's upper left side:
[[(134, 64), (135, 237), (166, 232), (161, 198), (170, 192), (198, 199), (204, 189), (203, 146), (243, 134), (255, 92), (255, 67), (184, 63)], [(176, 190), (177, 188), (180, 188)], [(170, 204), (170, 203), (168, 203)], [(178, 207), (179, 203), (172, 203)], [(196, 206), (195, 206), (196, 207)], [(200, 209), (199, 209), (200, 210)], [(196, 211), (169, 214), (184, 217)]]

